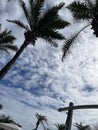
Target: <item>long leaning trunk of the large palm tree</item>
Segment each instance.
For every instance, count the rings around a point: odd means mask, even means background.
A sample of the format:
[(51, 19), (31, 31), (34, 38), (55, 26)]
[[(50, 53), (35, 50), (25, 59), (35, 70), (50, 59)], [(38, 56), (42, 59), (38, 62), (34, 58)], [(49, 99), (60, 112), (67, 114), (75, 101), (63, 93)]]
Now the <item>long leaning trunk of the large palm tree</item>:
[(17, 58), (28, 45), (29, 43), (25, 40), (20, 49), (16, 52), (15, 56), (2, 68), (2, 70), (0, 70), (0, 80), (7, 74), (7, 72), (11, 69)]

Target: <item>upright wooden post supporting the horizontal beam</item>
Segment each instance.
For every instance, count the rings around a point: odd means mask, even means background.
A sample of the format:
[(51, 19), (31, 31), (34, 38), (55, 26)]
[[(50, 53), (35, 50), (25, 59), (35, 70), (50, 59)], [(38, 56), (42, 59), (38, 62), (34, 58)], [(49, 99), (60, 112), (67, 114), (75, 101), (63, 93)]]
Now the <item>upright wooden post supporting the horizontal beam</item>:
[[(73, 107), (74, 104), (72, 102), (69, 103), (69, 107)], [(72, 125), (72, 116), (73, 116), (73, 110), (68, 110), (68, 115), (65, 123), (65, 130), (71, 130)]]

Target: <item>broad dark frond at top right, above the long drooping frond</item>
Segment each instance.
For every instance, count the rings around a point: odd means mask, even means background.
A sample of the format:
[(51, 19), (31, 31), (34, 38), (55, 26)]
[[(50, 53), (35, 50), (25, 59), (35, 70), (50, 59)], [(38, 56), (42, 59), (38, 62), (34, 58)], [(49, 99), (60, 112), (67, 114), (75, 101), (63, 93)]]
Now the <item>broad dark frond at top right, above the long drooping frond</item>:
[(76, 20), (93, 18), (93, 11), (85, 3), (72, 2), (67, 8), (72, 12)]

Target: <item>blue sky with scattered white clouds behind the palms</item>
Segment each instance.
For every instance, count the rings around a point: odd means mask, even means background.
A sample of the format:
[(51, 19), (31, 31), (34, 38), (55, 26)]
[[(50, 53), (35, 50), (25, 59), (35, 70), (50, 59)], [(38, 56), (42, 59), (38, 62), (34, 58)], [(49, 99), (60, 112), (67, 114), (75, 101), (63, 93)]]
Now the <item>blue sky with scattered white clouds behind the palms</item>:
[[(62, 0), (46, 0), (45, 9), (60, 2)], [(66, 6), (72, 0), (63, 2)], [(83, 21), (74, 23), (70, 11), (65, 7), (59, 14), (71, 23), (60, 30), (66, 38), (86, 24)], [(24, 41), (24, 30), (8, 23), (6, 19), (25, 21), (18, 0), (0, 0), (0, 23), (2, 29), (12, 30), (17, 38), (15, 44), (20, 47)], [(35, 127), (36, 113), (47, 116), (47, 128), (56, 129), (54, 124), (66, 120), (66, 112), (58, 112), (58, 109), (67, 107), (69, 102), (74, 105), (98, 104), (98, 38), (89, 26), (71, 46), (64, 62), (61, 61), (63, 44), (64, 41), (58, 41), (59, 47), (54, 48), (38, 39), (35, 46), (30, 45), (25, 49), (0, 81), (0, 103), (4, 106), (2, 113), (19, 122), (23, 130)], [(2, 69), (15, 53), (0, 53)], [(74, 111), (73, 124), (83, 122), (94, 125), (98, 123), (97, 113), (98, 110)]]

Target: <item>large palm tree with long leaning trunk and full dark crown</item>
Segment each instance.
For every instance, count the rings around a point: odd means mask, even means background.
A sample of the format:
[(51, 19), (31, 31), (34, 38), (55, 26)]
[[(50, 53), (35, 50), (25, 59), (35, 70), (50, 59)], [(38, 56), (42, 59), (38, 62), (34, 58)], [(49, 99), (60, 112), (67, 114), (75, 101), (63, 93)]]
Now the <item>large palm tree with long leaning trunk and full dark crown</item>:
[[(20, 20), (8, 20), (22, 29), (25, 30), (25, 40), (17, 51), (15, 56), (8, 62), (8, 64), (0, 71), (0, 79), (10, 70), (20, 54), (29, 45), (35, 45), (37, 38), (43, 38), (51, 45), (57, 47), (55, 40), (63, 40), (65, 37), (58, 32), (59, 29), (63, 29), (68, 26), (69, 23), (60, 18), (58, 11), (64, 6), (64, 3), (53, 6), (50, 9), (43, 12), (45, 0), (29, 0), (29, 8), (23, 0), (20, 1), (20, 6), (23, 9), (24, 15), (27, 19), (28, 25), (24, 24)], [(43, 12), (43, 13), (42, 13)]]

